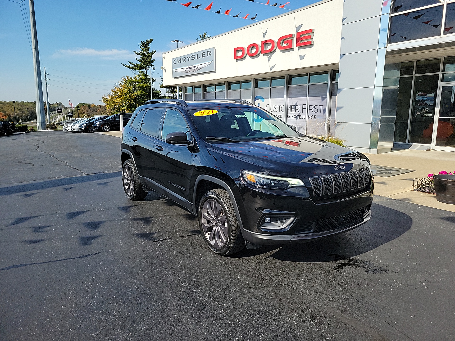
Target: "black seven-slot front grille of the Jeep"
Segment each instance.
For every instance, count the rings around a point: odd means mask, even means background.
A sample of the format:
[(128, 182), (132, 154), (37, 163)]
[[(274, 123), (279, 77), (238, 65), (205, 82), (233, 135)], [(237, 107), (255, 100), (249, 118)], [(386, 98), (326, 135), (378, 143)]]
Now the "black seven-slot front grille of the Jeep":
[(342, 191), (354, 191), (368, 185), (370, 170), (368, 167), (359, 168), (355, 171), (334, 173), (330, 175), (312, 176), (309, 178), (313, 187), (313, 196), (331, 196)]

